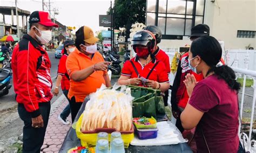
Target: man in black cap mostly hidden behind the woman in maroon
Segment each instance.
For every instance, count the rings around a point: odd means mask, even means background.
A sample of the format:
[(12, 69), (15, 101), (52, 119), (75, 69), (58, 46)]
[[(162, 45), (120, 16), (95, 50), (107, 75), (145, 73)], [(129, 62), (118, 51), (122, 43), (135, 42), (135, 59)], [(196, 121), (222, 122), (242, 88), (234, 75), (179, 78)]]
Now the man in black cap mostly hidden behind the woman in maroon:
[[(190, 40), (196, 40), (202, 36), (209, 36), (210, 28), (206, 24), (198, 24), (191, 29)], [(172, 104), (172, 114), (177, 119), (176, 126), (182, 133), (184, 131), (181, 121), (180, 121), (180, 114), (185, 109), (187, 102), (188, 102), (188, 95), (186, 91), (186, 87), (184, 85), (185, 76), (191, 73), (193, 74), (197, 81), (203, 79), (203, 76), (200, 74), (193, 73), (191, 71), (191, 67), (188, 63), (188, 52), (184, 53), (178, 64), (177, 73), (175, 79), (173, 81), (172, 86), (172, 95), (171, 95), (171, 104)]]

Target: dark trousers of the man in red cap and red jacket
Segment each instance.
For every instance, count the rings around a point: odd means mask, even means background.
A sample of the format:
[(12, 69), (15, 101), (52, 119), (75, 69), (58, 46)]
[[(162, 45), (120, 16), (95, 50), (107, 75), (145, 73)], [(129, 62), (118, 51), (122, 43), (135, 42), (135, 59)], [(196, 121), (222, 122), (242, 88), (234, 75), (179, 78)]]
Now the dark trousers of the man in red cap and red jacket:
[(41, 147), (44, 143), (44, 135), (46, 127), (48, 125), (49, 115), (50, 115), (51, 103), (44, 102), (39, 103), (39, 110), (44, 120), (43, 128), (33, 128), (31, 115), (26, 111), (23, 104), (18, 105), (18, 114), (24, 122), (23, 127), (23, 153), (25, 152), (40, 152)]

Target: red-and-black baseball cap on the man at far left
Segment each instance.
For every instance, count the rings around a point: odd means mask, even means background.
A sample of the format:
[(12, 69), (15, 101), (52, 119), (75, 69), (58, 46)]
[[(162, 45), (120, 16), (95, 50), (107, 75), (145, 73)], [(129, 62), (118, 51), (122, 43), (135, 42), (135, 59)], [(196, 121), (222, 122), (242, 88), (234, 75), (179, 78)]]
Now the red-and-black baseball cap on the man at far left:
[(59, 27), (57, 24), (51, 21), (49, 13), (44, 11), (32, 12), (29, 18), (29, 23), (39, 23), (45, 26)]

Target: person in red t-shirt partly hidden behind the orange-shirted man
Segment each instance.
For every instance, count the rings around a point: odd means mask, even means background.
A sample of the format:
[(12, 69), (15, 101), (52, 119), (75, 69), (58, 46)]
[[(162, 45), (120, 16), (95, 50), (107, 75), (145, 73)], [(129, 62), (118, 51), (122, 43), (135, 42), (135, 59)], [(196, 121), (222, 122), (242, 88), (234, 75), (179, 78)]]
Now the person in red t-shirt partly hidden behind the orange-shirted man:
[[(73, 40), (66, 40), (64, 42), (64, 52), (62, 57), (59, 60), (59, 66), (58, 66), (58, 76), (56, 80), (56, 86), (53, 91), (53, 95), (58, 95), (59, 93), (59, 84), (61, 82), (61, 87), (62, 87), (62, 92), (66, 96), (66, 99), (69, 100), (68, 98), (68, 93), (69, 93), (69, 87), (70, 87), (70, 82), (69, 82), (69, 74), (68, 71), (66, 70), (66, 59), (68, 58), (68, 55), (75, 51), (75, 41)], [(59, 114), (58, 119), (62, 121), (63, 124), (69, 124), (70, 122), (66, 120), (66, 118), (70, 114), (70, 106), (69, 104), (63, 109), (62, 113)]]

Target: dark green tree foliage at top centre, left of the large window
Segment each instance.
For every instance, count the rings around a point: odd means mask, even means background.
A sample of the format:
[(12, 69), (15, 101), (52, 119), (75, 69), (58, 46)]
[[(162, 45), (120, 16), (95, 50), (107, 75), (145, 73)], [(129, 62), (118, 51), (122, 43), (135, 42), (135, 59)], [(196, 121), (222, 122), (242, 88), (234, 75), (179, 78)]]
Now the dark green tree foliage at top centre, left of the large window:
[[(126, 27), (127, 23), (144, 23), (146, 16), (146, 0), (116, 0), (114, 1), (114, 29)], [(111, 15), (111, 9), (107, 11)], [(130, 29), (131, 27), (126, 27)]]

